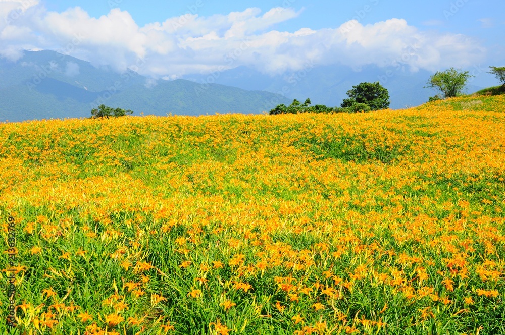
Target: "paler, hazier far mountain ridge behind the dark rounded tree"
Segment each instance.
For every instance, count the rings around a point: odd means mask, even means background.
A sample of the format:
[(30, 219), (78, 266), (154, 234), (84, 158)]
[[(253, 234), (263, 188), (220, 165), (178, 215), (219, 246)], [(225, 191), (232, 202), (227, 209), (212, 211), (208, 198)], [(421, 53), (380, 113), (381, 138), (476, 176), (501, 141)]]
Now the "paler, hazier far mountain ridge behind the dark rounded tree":
[[(265, 90), (281, 93), (289, 99), (310, 98), (313, 104), (340, 106), (347, 98), (346, 92), (362, 82), (380, 82), (388, 89), (392, 109), (418, 106), (437, 94), (424, 88), (432, 73), (420, 70), (412, 73), (401, 67), (367, 66), (361, 71), (342, 65), (314, 66), (274, 77), (246, 67), (219, 73), (215, 82), (248, 90)], [(185, 79), (195, 82), (205, 81), (207, 75), (189, 75)], [(481, 89), (468, 86), (468, 92)]]

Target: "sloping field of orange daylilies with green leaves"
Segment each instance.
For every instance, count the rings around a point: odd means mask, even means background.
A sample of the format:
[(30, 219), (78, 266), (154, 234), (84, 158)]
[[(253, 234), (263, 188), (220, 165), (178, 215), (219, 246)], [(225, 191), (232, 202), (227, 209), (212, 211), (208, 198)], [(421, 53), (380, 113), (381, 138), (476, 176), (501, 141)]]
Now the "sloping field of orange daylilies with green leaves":
[(18, 334), (503, 334), (505, 97), (0, 124)]

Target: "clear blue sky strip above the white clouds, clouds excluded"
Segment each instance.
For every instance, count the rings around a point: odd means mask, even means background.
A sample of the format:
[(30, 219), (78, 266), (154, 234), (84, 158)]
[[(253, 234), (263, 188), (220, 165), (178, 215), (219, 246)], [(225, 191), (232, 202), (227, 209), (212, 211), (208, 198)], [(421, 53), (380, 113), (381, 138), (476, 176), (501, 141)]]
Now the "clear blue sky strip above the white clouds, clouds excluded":
[[(69, 7), (79, 6), (91, 16), (99, 17), (107, 14), (111, 8), (118, 7), (128, 11), (138, 25), (150, 22), (162, 22), (169, 17), (183, 15), (195, 8), (196, 0), (167, 1), (167, 0), (53, 0), (45, 1), (49, 10), (62, 12)], [(309, 27), (312, 29), (337, 27), (352, 17), (359, 15), (365, 6), (372, 9), (363, 17), (364, 24), (373, 24), (391, 18), (406, 19), (414, 26), (430, 26), (444, 31), (455, 33), (471, 33), (488, 39), (503, 39), (500, 31), (504, 31), (505, 2), (489, 0), (460, 0), (460, 1), (399, 1), (399, 0), (361, 0), (361, 1), (327, 1), (327, 0), (202, 0), (203, 6), (197, 7), (196, 14), (211, 16), (214, 14), (226, 15), (230, 12), (243, 11), (246, 8), (258, 7), (263, 11), (271, 8), (288, 5), (297, 10), (304, 9), (304, 14), (290, 22), (278, 25), (278, 29), (294, 31)], [(455, 5), (451, 6), (451, 5)], [(458, 11), (452, 11), (457, 9)], [(363, 12), (362, 12), (363, 13)], [(448, 15), (447, 13), (453, 14)], [(481, 21), (489, 20), (491, 27)]]

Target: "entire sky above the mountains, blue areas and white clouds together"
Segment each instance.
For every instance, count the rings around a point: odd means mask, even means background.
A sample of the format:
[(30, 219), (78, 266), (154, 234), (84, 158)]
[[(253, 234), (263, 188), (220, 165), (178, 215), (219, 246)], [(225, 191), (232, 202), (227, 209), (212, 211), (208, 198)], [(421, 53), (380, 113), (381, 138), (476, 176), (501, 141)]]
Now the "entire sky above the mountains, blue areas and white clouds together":
[(505, 66), (503, 13), (484, 0), (0, 0), (0, 55), (54, 49), (118, 70), (141, 59), (140, 73), (165, 79), (307, 62), (487, 68)]

